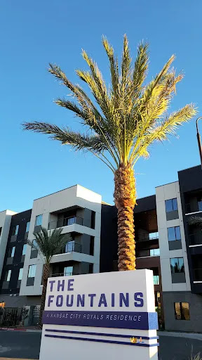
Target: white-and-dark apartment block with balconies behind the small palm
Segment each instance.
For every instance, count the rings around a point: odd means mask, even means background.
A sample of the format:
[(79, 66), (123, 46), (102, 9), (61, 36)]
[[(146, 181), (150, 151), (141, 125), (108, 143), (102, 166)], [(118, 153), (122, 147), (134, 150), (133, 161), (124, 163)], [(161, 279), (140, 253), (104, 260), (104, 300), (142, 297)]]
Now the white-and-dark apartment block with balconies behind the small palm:
[[(5, 248), (0, 302), (4, 300), (7, 307), (40, 304), (43, 259), (26, 242), (27, 238), (34, 242), (41, 226), (69, 233), (65, 249), (53, 256), (51, 276), (99, 272), (101, 201), (101, 195), (76, 185), (36, 199), (32, 210), (9, 218), (10, 226), (4, 225), (7, 231), (2, 228), (0, 238)], [(3, 220), (5, 216), (3, 212)]]

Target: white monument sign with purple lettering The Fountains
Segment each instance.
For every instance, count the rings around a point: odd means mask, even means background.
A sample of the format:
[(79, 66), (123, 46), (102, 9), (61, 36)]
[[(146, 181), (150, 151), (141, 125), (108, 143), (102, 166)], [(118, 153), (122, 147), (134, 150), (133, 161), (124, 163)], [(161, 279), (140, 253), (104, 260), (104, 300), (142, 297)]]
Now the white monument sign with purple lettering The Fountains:
[(48, 279), (40, 360), (158, 359), (153, 272)]

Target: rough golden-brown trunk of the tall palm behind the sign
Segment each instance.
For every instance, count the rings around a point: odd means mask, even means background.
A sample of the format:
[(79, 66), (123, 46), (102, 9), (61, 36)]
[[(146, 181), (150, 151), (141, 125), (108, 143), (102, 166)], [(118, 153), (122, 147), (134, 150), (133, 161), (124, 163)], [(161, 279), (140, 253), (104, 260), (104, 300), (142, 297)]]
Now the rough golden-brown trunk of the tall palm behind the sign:
[(136, 203), (136, 189), (133, 169), (121, 165), (115, 172), (114, 183), (114, 201), (118, 210), (118, 267), (119, 271), (135, 270), (133, 210)]

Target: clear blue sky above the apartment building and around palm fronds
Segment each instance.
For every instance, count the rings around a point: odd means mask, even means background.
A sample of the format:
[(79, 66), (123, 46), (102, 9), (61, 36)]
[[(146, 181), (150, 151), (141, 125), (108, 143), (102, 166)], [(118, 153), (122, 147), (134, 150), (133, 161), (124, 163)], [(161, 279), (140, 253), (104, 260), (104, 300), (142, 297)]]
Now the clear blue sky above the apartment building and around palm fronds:
[[(74, 153), (43, 134), (22, 131), (20, 124), (41, 120), (79, 129), (72, 113), (53, 103), (68, 90), (47, 72), (48, 63), (57, 63), (69, 79), (81, 84), (74, 70), (86, 68), (83, 48), (109, 82), (102, 34), (119, 56), (124, 33), (133, 58), (139, 41), (149, 41), (149, 78), (175, 53), (175, 68), (185, 77), (170, 110), (194, 102), (201, 115), (201, 11), (200, 0), (2, 0), (0, 211), (26, 210), (34, 198), (74, 184), (113, 203), (113, 174), (102, 162), (93, 155)], [(149, 160), (137, 162), (139, 198), (154, 193), (155, 186), (177, 180), (177, 170), (199, 164), (195, 121), (181, 127), (178, 135), (180, 139), (155, 144)]]

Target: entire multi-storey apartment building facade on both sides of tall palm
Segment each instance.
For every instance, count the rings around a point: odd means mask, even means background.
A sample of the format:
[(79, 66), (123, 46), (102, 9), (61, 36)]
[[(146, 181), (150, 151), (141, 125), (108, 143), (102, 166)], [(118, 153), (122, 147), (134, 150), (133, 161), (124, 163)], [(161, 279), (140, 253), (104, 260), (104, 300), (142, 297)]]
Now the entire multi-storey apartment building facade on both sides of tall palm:
[[(156, 311), (166, 330), (201, 332), (202, 171), (178, 172), (178, 181), (156, 187), (134, 211), (136, 267), (152, 269)], [(51, 276), (117, 271), (116, 207), (76, 185), (34, 200), (32, 210), (0, 212), (0, 302), (6, 307), (40, 304), (43, 258), (26, 245), (41, 226), (69, 233), (54, 255)], [(1, 299), (2, 298), (2, 299)]]

